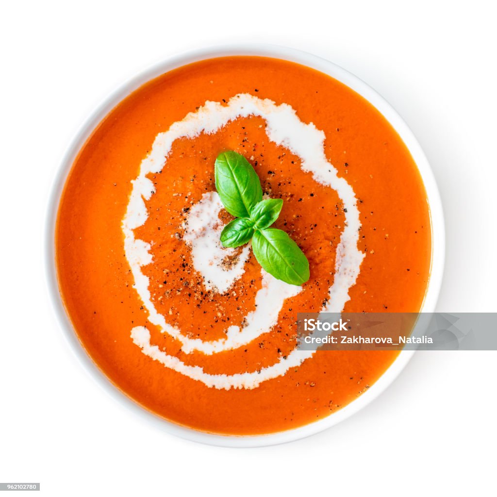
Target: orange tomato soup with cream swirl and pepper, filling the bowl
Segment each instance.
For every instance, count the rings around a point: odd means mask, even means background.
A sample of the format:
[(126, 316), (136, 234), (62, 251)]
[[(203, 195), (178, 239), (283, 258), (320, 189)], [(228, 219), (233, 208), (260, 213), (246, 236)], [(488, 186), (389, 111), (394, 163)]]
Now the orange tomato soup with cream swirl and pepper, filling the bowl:
[[(309, 261), (289, 285), (233, 219), (214, 163), (242, 154), (275, 227)], [(236, 435), (296, 428), (353, 402), (397, 351), (296, 349), (299, 312), (417, 312), (431, 259), (424, 186), (386, 119), (342, 83), (265, 57), (222, 57), (141, 86), (96, 127), (66, 181), (56, 264), (89, 356), (165, 419)]]

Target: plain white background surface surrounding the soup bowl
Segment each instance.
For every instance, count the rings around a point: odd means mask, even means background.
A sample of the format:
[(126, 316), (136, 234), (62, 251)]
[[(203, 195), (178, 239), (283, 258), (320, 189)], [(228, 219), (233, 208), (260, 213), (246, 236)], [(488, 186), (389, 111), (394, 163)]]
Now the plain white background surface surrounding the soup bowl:
[(42, 267), (53, 176), (112, 89), (185, 49), (270, 42), (330, 59), (404, 117), (445, 210), (437, 310), (496, 311), (493, 4), (4, 3), (0, 482), (41, 482), (47, 496), (495, 495), (496, 352), (417, 353), (366, 409), (305, 440), (202, 446), (148, 426), (99, 389), (62, 337)]

